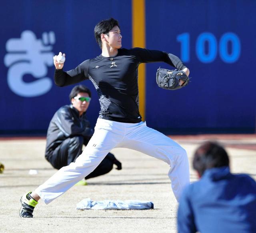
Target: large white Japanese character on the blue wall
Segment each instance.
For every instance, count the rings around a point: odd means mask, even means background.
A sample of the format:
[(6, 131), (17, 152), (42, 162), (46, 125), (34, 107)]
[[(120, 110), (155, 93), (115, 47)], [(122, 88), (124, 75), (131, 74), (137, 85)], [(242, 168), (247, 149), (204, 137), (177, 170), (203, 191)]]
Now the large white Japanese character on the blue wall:
[[(48, 72), (47, 66), (53, 66), (54, 53), (51, 52), (51, 45), (54, 43), (54, 32), (44, 32), (42, 39), (37, 39), (30, 30), (22, 32), (20, 38), (11, 38), (6, 42), (8, 54), (4, 57), (4, 64), (9, 67), (7, 82), (15, 94), (35, 97), (52, 88), (52, 80), (45, 76)], [(38, 80), (24, 82), (25, 74), (31, 74)]]

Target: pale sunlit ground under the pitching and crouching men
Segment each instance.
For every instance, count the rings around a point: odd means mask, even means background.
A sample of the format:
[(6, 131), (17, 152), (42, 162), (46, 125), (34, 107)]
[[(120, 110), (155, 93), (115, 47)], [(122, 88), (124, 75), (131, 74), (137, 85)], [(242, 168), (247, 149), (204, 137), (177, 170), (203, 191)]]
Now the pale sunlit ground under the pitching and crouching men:
[[(219, 139), (227, 146), (234, 173), (248, 173), (256, 179), (256, 135), (197, 135), (172, 137), (191, 158), (195, 148), (206, 139)], [(170, 188), (168, 165), (129, 149), (112, 152), (123, 169), (88, 180), (87, 186), (74, 186), (49, 205), (36, 206), (33, 219), (19, 217), (20, 196), (35, 189), (56, 172), (45, 159), (44, 138), (0, 139), (0, 232), (176, 232), (178, 204)], [(29, 175), (36, 169), (37, 175)], [(191, 181), (196, 174), (191, 169)], [(140, 199), (152, 201), (154, 209), (143, 211), (76, 210), (84, 198)]]

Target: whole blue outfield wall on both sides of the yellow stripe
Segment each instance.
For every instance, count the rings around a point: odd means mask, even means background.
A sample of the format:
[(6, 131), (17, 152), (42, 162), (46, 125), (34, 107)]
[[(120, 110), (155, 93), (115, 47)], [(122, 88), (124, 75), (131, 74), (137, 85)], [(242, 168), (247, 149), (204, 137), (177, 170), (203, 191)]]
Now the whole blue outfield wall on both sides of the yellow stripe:
[[(254, 132), (255, 8), (255, 1), (242, 0), (146, 0), (146, 47), (176, 54), (192, 77), (185, 88), (162, 90), (156, 70), (170, 67), (147, 64), (150, 127), (166, 133)], [(130, 0), (2, 3), (0, 133), (45, 133), (54, 112), (69, 104), (73, 87), (54, 85), (52, 56), (65, 52), (64, 70), (70, 70), (100, 54), (93, 29), (109, 17), (119, 20), (122, 45), (130, 48), (131, 14)], [(100, 106), (93, 85), (84, 84), (92, 90), (88, 118), (94, 125)]]

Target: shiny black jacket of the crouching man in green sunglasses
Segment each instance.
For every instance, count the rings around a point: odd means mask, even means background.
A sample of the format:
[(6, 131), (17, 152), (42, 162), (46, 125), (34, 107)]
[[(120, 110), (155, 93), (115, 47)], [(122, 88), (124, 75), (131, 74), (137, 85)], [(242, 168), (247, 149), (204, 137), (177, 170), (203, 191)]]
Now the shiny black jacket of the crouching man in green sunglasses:
[(62, 106), (50, 121), (47, 138), (45, 157), (52, 154), (68, 137), (77, 135), (84, 137), (84, 144), (87, 145), (94, 130), (90, 127), (90, 122), (86, 118), (86, 113), (79, 117), (79, 112), (72, 105)]

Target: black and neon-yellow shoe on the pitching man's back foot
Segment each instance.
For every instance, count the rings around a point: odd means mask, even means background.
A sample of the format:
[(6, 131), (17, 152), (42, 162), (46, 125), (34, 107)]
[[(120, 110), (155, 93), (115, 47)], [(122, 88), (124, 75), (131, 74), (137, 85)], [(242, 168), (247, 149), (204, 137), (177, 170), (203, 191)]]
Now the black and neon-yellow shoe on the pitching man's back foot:
[(32, 213), (38, 202), (30, 196), (31, 193), (32, 192), (26, 193), (20, 198), (20, 203), (21, 203), (20, 217), (22, 218), (33, 217)]

